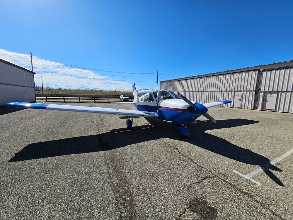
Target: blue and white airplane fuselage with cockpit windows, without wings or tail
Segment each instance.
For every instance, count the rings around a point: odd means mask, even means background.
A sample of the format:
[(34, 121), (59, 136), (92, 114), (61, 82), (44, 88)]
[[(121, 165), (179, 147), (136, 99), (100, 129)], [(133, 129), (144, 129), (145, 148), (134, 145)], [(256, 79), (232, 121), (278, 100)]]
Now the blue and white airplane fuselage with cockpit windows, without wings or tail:
[(142, 90), (137, 93), (137, 100), (133, 102), (139, 111), (149, 111), (158, 114), (158, 118), (182, 124), (195, 121), (200, 114), (194, 114), (191, 106), (171, 91)]

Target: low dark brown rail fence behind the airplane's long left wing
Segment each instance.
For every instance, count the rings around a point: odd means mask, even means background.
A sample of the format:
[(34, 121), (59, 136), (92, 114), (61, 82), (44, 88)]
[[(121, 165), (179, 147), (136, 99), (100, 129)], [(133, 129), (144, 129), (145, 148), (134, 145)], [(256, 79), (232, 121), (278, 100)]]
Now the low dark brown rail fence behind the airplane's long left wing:
[[(45, 97), (46, 98), (46, 102), (48, 101), (48, 99), (56, 99), (56, 98), (63, 98), (63, 101), (65, 101), (65, 98), (72, 98), (72, 99), (79, 99), (79, 101), (81, 100), (81, 98), (87, 98), (87, 99), (93, 99), (93, 101), (95, 102), (95, 100), (97, 99), (107, 99), (109, 101), (109, 98), (117, 98), (119, 99), (119, 101), (121, 101), (121, 97), (120, 95), (64, 95), (64, 94), (56, 94), (56, 95), (38, 95), (36, 94), (36, 97)], [(132, 101), (133, 96), (128, 96), (130, 98), (130, 101)]]

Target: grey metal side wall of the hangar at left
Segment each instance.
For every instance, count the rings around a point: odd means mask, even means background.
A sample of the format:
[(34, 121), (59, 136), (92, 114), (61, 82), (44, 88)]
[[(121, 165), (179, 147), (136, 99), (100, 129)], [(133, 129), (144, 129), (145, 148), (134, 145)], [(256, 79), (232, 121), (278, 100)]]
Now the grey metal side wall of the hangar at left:
[(34, 74), (0, 62), (0, 106), (35, 100)]

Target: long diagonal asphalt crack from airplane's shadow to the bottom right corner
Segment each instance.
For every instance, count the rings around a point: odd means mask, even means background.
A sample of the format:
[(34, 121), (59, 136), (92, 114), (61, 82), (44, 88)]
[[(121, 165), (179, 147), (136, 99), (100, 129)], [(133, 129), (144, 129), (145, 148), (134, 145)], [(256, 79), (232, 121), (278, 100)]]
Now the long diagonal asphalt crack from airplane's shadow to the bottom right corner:
[[(192, 163), (194, 163), (195, 165), (197, 165), (197, 166), (199, 166), (199, 167), (201, 167), (201, 168), (207, 170), (207, 171), (210, 172), (212, 175), (214, 175), (214, 177), (217, 177), (219, 180), (224, 181), (225, 183), (229, 184), (233, 189), (235, 189), (235, 190), (241, 192), (243, 195), (245, 195), (245, 196), (248, 197), (249, 199), (253, 200), (254, 202), (256, 202), (256, 203), (258, 203), (258, 204), (260, 204), (260, 206), (262, 206), (264, 209), (268, 210), (268, 211), (269, 211), (271, 214), (273, 214), (274, 216), (278, 217), (279, 219), (285, 220), (285, 219), (282, 218), (280, 215), (278, 215), (277, 213), (275, 213), (274, 211), (272, 211), (272, 210), (270, 210), (268, 207), (266, 207), (266, 206), (265, 206), (265, 205), (266, 205), (265, 203), (256, 200), (251, 194), (249, 194), (249, 193), (247, 193), (247, 192), (244, 192), (243, 190), (241, 190), (239, 187), (237, 187), (236, 185), (232, 184), (231, 182), (229, 182), (229, 181), (227, 181), (227, 180), (224, 180), (223, 178), (217, 176), (216, 174), (214, 174), (212, 171), (210, 171), (210, 170), (207, 169), (206, 167), (204, 167), (204, 166), (199, 165), (198, 163), (196, 163), (192, 158), (189, 158), (188, 156), (183, 155), (183, 154), (180, 152), (180, 150), (179, 150), (178, 148), (176, 148), (176, 147), (174, 147), (174, 146), (168, 144), (168, 143), (165, 142), (165, 141), (162, 141), (162, 140), (156, 138), (152, 133), (149, 133), (149, 132), (146, 131), (146, 130), (143, 130), (143, 131), (145, 131), (146, 133), (148, 133), (149, 135), (151, 135), (155, 140), (161, 141), (161, 142), (165, 143), (166, 145), (168, 145), (169, 147), (175, 149), (176, 151), (178, 151), (178, 153), (179, 153), (181, 156), (183, 156), (183, 157), (189, 159), (189, 160), (190, 160)], [(214, 177), (212, 177), (212, 179), (213, 179)], [(207, 179), (207, 178), (204, 178), (204, 179)], [(201, 182), (202, 182), (202, 181), (201, 181)], [(201, 182), (200, 182), (200, 183), (201, 183)], [(192, 185), (192, 184), (191, 184), (191, 185)], [(188, 192), (188, 194), (190, 195), (190, 192)], [(188, 208), (190, 208), (190, 206), (187, 207), (186, 209), (184, 209), (183, 213), (180, 214), (180, 216), (182, 216), (182, 215), (184, 214), (184, 212), (185, 212)]]

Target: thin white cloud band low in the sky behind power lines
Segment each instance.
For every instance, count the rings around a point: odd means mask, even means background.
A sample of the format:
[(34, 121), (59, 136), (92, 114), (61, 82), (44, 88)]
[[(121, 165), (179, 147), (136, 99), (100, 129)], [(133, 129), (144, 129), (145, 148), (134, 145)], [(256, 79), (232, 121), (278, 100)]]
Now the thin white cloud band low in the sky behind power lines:
[[(6, 60), (26, 69), (31, 69), (30, 55), (28, 54), (0, 49), (0, 59)], [(35, 84), (41, 84), (41, 77), (43, 77), (43, 84), (57, 85), (51, 87), (132, 90), (132, 84), (128, 82), (113, 79), (109, 76), (98, 74), (91, 70), (68, 67), (62, 63), (52, 62), (51, 60), (43, 60), (37, 56), (33, 56), (33, 69), (34, 72), (37, 73), (35, 75)], [(137, 87), (137, 89), (140, 88)]]

